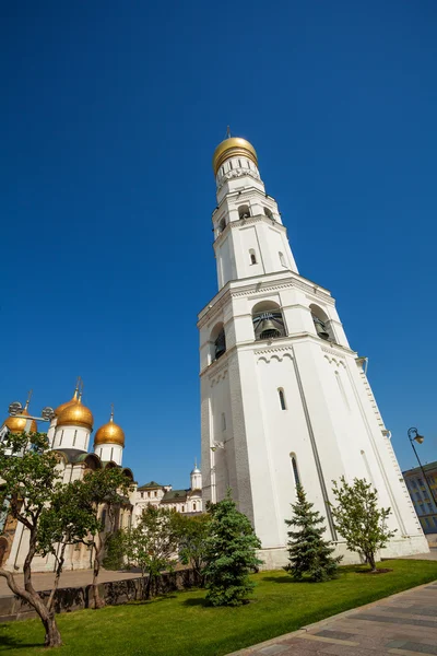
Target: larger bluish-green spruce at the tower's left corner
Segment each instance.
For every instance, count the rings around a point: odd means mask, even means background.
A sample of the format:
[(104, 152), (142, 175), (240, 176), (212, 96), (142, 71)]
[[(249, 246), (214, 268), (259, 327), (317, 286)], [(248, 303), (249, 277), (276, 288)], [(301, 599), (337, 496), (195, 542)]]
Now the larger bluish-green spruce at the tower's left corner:
[(231, 497), (209, 507), (210, 536), (205, 541), (206, 599), (212, 606), (240, 606), (253, 588), (249, 572), (262, 561), (256, 555), (261, 542), (249, 519)]

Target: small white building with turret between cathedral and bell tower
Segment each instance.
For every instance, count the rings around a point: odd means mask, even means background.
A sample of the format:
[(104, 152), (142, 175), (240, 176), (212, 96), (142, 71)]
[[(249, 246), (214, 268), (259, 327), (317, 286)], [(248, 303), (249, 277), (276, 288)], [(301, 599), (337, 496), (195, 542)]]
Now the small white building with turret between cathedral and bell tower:
[(174, 508), (182, 515), (193, 515), (203, 511), (202, 475), (197, 464), (190, 475), (191, 487), (185, 490), (173, 490), (172, 485), (161, 485), (150, 481), (137, 490), (134, 505), (135, 522), (147, 505)]

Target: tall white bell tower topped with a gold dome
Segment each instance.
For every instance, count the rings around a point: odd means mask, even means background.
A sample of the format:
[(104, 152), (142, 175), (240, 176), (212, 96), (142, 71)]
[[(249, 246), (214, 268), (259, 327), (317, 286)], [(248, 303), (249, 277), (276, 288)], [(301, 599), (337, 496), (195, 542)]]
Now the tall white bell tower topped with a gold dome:
[(253, 147), (225, 139), (213, 168), (218, 293), (199, 315), (203, 500), (232, 488), (262, 542), (264, 566), (282, 566), (284, 519), (296, 483), (333, 526), (332, 480), (366, 478), (392, 508), (385, 555), (428, 550), (363, 368), (330, 292), (299, 276), (277, 204)]

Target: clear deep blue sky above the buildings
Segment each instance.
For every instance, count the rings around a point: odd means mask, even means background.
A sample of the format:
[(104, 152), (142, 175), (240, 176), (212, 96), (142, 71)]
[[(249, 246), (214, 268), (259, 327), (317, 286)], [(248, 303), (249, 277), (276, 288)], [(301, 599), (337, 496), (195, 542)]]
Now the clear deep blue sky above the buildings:
[(403, 468), (437, 459), (432, 1), (3, 3), (1, 379), (81, 375), (135, 478), (189, 484), (197, 313), (216, 292), (211, 157), (256, 147), (303, 276), (338, 301)]

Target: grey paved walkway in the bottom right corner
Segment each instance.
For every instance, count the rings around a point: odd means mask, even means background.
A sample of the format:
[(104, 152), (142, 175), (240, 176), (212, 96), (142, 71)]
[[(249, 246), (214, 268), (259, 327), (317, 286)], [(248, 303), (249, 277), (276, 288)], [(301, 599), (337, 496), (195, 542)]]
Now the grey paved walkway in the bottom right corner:
[(437, 655), (437, 582), (228, 656)]

